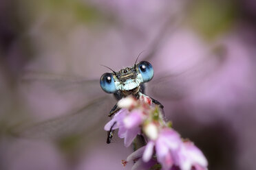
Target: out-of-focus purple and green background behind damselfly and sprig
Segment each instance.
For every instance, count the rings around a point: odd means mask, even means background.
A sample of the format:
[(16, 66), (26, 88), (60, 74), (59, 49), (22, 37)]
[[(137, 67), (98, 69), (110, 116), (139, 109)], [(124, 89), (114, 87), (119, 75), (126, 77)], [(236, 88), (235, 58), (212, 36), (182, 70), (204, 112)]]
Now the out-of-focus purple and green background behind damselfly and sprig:
[(110, 96), (100, 64), (118, 71), (143, 50), (147, 94), (209, 169), (255, 169), (255, 28), (253, 0), (2, 0), (0, 169), (131, 169), (132, 148), (105, 144), (113, 97), (69, 115)]

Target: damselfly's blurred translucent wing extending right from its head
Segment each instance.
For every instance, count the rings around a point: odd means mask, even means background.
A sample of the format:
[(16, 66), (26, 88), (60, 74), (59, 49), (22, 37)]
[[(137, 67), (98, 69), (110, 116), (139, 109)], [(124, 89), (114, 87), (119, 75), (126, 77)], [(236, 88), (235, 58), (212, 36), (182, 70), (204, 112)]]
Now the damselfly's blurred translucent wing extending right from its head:
[(165, 72), (156, 75), (146, 84), (147, 93), (156, 99), (178, 100), (191, 95), (200, 84), (221, 69), (225, 61), (224, 54), (209, 55), (191, 68), (181, 73)]

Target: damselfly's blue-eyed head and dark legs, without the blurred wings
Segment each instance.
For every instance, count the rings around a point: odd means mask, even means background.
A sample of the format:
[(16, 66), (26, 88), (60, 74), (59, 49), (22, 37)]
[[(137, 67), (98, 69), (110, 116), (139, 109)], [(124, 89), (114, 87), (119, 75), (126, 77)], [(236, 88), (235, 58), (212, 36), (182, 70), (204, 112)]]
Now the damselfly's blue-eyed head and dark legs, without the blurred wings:
[[(145, 96), (147, 99), (150, 99), (153, 104), (157, 104), (160, 108), (164, 108), (164, 106), (162, 106), (156, 99), (144, 95), (145, 88), (143, 84), (149, 82), (153, 78), (153, 66), (147, 61), (142, 61), (138, 64), (136, 64), (136, 62), (134, 66), (121, 69), (118, 72), (111, 70), (112, 73), (104, 73), (100, 77), (101, 88), (106, 93), (114, 93), (114, 97), (117, 100), (127, 97), (128, 95), (132, 95), (136, 99)], [(120, 108), (115, 104), (109, 112), (109, 117), (118, 110), (120, 110)], [(113, 127), (114, 125), (111, 126), (111, 129), (107, 134), (107, 143), (111, 143), (111, 138), (114, 134), (114, 130), (112, 130)]]

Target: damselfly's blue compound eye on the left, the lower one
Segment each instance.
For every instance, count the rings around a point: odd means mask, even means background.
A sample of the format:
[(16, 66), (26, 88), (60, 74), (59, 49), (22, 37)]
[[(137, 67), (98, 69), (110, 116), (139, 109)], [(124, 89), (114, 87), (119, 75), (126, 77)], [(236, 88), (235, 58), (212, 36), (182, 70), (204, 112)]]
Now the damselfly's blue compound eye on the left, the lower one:
[(111, 73), (104, 73), (100, 77), (100, 86), (106, 93), (115, 93), (116, 85)]

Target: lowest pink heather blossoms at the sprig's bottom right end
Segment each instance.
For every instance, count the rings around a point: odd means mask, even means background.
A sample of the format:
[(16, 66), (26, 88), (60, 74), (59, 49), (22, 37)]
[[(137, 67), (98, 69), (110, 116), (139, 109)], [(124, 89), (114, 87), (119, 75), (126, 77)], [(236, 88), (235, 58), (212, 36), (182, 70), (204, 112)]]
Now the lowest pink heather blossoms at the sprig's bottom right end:
[(158, 138), (147, 143), (142, 160), (147, 162), (156, 148), (156, 158), (163, 170), (179, 167), (180, 170), (206, 170), (208, 162), (202, 151), (193, 143), (183, 142), (180, 135), (171, 128), (161, 130)]

